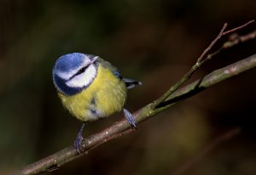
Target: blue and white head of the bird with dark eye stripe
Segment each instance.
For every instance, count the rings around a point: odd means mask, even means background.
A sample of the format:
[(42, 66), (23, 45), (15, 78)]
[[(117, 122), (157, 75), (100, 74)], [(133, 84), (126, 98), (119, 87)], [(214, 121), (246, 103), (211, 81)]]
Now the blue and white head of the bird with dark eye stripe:
[(87, 88), (96, 77), (98, 58), (80, 53), (61, 56), (53, 68), (55, 88), (66, 95), (73, 95)]

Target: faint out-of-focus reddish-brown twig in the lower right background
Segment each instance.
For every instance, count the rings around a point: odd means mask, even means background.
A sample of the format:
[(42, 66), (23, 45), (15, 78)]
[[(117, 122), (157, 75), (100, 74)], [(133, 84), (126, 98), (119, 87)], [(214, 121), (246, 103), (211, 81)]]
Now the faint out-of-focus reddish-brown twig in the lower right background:
[(230, 140), (230, 138), (236, 137), (239, 133), (241, 133), (241, 128), (236, 127), (230, 129), (230, 131), (221, 134), (218, 138), (215, 138), (210, 144), (208, 144), (203, 150), (201, 150), (197, 155), (195, 155), (188, 162), (183, 164), (181, 167), (178, 167), (172, 175), (182, 175), (185, 172), (188, 172), (189, 168), (195, 166), (196, 163), (201, 161), (206, 155), (208, 155), (212, 150), (216, 149), (219, 144), (224, 144), (224, 142)]

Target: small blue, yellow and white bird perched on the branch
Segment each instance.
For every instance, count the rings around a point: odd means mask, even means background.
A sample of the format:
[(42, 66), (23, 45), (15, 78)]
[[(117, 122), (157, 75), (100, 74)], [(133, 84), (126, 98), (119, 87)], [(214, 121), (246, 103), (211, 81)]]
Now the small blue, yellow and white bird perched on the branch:
[(123, 109), (127, 121), (136, 127), (134, 117), (123, 106), (127, 89), (142, 82), (123, 78), (108, 61), (91, 54), (62, 55), (53, 68), (53, 82), (63, 106), (83, 121), (74, 141), (79, 153), (86, 122), (111, 116)]

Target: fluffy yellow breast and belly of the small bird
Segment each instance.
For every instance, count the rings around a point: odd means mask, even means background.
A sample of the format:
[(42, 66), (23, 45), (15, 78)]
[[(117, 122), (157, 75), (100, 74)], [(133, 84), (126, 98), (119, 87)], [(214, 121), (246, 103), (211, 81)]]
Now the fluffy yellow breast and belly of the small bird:
[(125, 82), (99, 64), (97, 76), (88, 88), (72, 96), (59, 96), (73, 116), (81, 121), (96, 121), (122, 110), (126, 91)]

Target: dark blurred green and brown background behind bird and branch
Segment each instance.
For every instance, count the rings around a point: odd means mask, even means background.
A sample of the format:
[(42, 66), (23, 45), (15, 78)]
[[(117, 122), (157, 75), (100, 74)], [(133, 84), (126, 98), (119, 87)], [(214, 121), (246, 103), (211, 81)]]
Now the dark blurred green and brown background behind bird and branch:
[[(62, 54), (102, 56), (123, 76), (142, 81), (125, 106), (135, 111), (177, 82), (224, 22), (231, 28), (253, 20), (255, 7), (253, 0), (1, 0), (0, 174), (73, 144), (81, 122), (62, 108), (51, 76)], [(255, 24), (239, 34), (253, 30)], [(218, 54), (191, 81), (255, 54), (255, 44)], [(143, 122), (137, 132), (44, 174), (175, 174), (236, 127), (240, 134), (183, 174), (255, 174), (255, 76), (256, 69), (224, 81)], [(88, 124), (84, 136), (121, 117)]]

